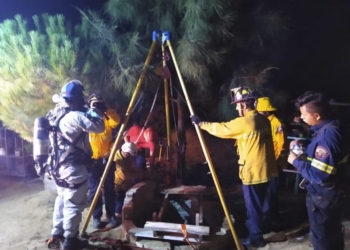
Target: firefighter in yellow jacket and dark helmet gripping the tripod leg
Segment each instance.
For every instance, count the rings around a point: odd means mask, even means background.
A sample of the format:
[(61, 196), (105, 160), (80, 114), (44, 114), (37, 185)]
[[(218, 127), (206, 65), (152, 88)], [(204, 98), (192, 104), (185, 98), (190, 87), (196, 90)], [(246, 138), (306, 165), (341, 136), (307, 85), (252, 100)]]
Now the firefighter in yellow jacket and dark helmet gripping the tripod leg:
[(258, 92), (248, 87), (231, 89), (232, 104), (236, 104), (241, 117), (229, 122), (202, 122), (196, 115), (191, 117), (192, 123), (210, 134), (237, 140), (249, 230), (249, 237), (242, 243), (247, 247), (266, 245), (261, 231), (263, 206), (269, 181), (277, 174), (270, 122), (255, 110), (258, 97)]

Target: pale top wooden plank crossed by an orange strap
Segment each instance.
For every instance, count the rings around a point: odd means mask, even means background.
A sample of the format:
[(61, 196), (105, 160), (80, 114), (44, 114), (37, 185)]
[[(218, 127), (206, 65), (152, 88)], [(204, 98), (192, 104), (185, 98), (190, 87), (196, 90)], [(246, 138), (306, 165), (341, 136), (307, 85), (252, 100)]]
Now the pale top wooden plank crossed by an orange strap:
[[(181, 224), (147, 221), (144, 228), (154, 231), (182, 233)], [(209, 235), (209, 227), (186, 225), (189, 234)]]

